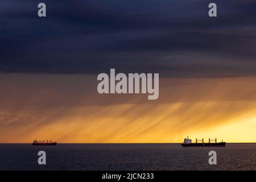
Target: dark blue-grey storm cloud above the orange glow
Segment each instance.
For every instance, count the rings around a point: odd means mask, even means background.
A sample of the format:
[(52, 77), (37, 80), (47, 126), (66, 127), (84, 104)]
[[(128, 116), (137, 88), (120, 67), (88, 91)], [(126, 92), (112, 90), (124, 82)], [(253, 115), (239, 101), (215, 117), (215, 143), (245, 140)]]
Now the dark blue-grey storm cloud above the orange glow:
[(164, 76), (255, 75), (256, 2), (0, 2), (0, 71), (159, 72)]

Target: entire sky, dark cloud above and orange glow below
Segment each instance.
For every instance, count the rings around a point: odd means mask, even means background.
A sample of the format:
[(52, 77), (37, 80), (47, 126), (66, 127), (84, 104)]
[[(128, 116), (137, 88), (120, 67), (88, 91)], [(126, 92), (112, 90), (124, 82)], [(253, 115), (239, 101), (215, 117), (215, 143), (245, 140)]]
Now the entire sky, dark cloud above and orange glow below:
[[(0, 2), (0, 143), (256, 142), (256, 2)], [(159, 98), (97, 75), (159, 73)]]

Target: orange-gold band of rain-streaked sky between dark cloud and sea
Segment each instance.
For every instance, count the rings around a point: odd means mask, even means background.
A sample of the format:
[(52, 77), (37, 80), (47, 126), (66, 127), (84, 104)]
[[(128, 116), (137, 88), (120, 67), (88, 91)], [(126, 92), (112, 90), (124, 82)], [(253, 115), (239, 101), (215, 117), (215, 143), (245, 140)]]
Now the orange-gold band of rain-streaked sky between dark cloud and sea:
[(163, 78), (156, 101), (100, 95), (91, 75), (0, 79), (0, 143), (256, 142), (256, 77)]

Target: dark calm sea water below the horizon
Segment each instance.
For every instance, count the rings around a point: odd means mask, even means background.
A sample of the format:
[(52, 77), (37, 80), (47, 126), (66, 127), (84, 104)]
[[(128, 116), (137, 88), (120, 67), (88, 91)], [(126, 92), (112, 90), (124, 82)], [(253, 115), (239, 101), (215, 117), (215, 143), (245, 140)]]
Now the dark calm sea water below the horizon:
[[(47, 165), (38, 164), (46, 151)], [(217, 152), (217, 165), (208, 152)], [(0, 170), (256, 170), (256, 143), (183, 148), (180, 144), (0, 144)]]

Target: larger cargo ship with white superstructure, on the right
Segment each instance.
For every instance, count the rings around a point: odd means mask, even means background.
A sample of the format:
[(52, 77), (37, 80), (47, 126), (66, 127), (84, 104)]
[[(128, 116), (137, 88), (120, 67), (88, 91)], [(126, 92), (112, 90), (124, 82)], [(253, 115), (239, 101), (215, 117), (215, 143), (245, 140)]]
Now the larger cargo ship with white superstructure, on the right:
[[(214, 141), (214, 142), (212, 142)], [(184, 142), (181, 143), (183, 147), (226, 147), (226, 142), (217, 142), (217, 138), (210, 139), (208, 143), (204, 143), (204, 139), (197, 139), (196, 143), (192, 143), (192, 139), (184, 138)]]

